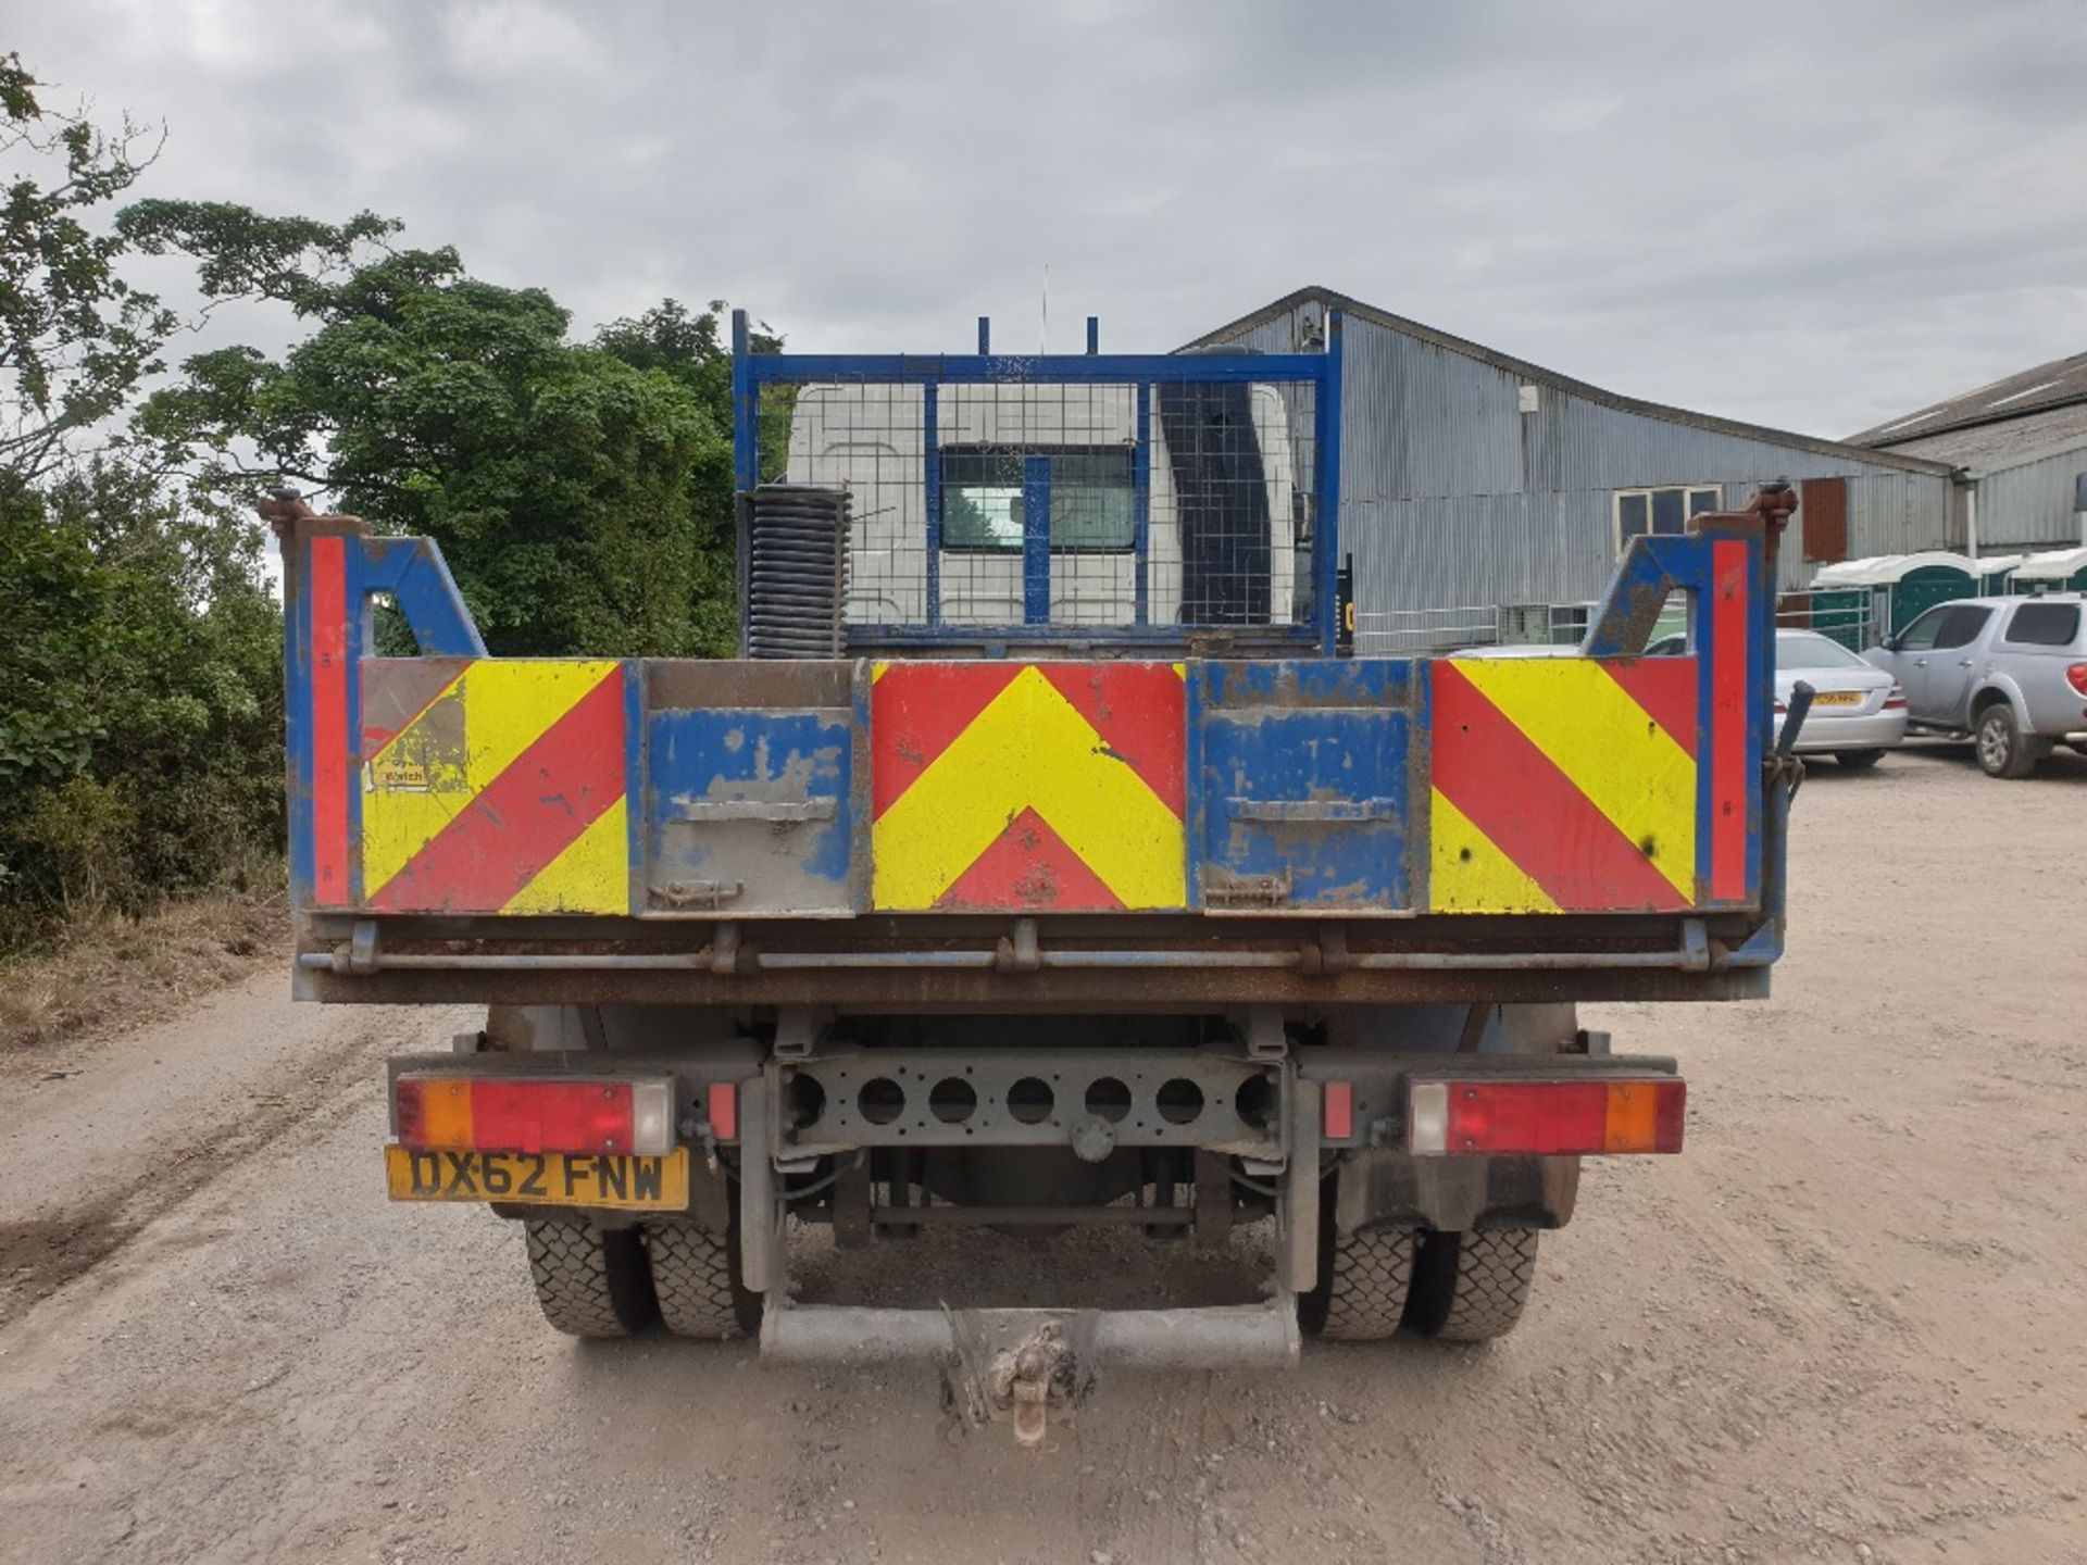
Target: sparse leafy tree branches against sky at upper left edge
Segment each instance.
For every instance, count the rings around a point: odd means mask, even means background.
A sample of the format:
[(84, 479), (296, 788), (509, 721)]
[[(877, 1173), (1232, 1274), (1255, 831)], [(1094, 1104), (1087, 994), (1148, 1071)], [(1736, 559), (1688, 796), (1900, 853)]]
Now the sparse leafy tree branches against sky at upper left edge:
[(67, 465), (67, 442), (125, 407), (177, 328), (119, 275), (127, 240), (92, 227), (157, 142), (46, 109), (44, 86), (0, 56), (0, 467), (19, 480)]

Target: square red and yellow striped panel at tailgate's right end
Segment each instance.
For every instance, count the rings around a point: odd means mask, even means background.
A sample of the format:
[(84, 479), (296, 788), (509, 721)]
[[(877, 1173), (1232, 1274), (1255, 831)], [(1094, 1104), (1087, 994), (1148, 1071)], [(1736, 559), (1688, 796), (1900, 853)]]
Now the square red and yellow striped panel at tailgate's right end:
[(1442, 659), (1430, 906), (1697, 901), (1697, 659)]

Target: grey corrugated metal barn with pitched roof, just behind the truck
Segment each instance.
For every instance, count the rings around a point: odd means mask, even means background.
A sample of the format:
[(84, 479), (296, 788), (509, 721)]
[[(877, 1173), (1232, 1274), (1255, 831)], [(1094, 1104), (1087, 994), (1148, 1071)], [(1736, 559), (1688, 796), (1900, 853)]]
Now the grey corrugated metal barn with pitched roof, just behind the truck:
[(1588, 386), (1327, 288), (1302, 288), (1192, 348), (1300, 353), (1342, 311), (1340, 547), (1354, 559), (1357, 649), (1572, 636), (1569, 605), (1609, 580), (1624, 538), (1678, 532), (1757, 484), (1803, 484), (1782, 586), (1820, 563), (1933, 549), (1951, 467)]

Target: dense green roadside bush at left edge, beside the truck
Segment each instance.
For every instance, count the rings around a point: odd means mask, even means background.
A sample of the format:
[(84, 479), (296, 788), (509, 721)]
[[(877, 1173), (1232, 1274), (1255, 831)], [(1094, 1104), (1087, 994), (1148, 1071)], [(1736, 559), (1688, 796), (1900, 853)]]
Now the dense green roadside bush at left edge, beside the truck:
[(263, 872), (282, 618), (255, 528), (96, 459), (0, 480), (0, 935)]

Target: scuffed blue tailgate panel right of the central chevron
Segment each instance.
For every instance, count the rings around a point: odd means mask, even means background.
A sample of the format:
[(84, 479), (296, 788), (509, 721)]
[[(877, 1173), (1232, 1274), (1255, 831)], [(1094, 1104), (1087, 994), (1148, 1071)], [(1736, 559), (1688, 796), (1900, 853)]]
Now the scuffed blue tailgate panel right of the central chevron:
[(1194, 672), (1204, 906), (1411, 908), (1413, 666), (1296, 659)]

